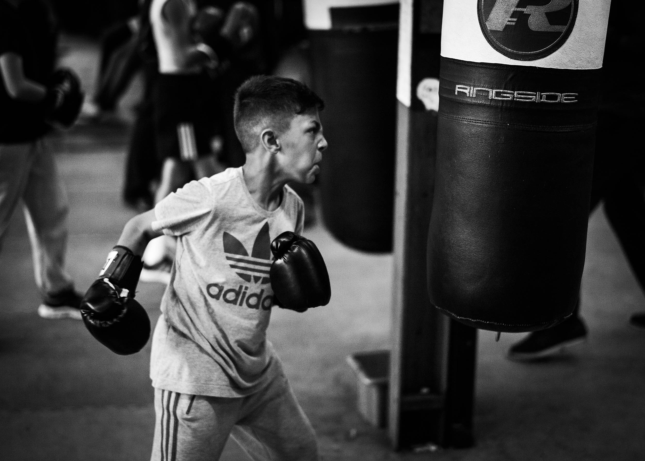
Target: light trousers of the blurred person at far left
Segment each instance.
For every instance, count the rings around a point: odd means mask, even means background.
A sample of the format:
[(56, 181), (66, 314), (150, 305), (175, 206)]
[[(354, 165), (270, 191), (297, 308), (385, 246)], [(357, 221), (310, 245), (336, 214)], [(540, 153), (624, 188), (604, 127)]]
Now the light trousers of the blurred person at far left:
[(0, 144), (0, 248), (15, 208), (23, 203), (34, 254), (34, 276), (42, 294), (72, 289), (64, 271), (67, 195), (46, 141)]

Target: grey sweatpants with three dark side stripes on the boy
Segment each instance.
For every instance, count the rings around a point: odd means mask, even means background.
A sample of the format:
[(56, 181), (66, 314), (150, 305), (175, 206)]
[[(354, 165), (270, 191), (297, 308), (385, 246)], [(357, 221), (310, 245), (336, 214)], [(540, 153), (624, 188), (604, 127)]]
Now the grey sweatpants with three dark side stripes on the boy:
[(313, 427), (292, 388), (279, 374), (240, 398), (155, 389), (151, 461), (217, 461), (228, 436), (253, 461), (317, 461)]

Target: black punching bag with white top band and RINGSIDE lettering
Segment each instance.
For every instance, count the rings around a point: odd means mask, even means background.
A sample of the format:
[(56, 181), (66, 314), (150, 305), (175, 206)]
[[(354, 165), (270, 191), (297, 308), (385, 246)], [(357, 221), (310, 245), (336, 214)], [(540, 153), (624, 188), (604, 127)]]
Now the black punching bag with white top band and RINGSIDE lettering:
[(579, 296), (610, 0), (446, 0), (428, 292), (535, 331)]

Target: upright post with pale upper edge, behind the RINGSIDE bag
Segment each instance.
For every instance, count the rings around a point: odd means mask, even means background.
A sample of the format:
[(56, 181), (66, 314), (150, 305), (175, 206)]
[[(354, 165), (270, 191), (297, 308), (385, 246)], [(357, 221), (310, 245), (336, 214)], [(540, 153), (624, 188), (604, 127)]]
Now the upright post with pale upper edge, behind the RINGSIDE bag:
[(401, 0), (388, 433), (394, 449), (473, 444), (476, 331), (428, 300), (441, 0)]

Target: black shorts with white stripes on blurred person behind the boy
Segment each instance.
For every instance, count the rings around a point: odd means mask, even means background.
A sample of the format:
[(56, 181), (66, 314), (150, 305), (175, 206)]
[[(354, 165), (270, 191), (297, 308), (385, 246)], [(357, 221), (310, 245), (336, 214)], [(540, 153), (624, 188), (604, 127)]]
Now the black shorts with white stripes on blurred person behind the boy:
[(205, 74), (159, 74), (152, 88), (157, 157), (185, 161), (210, 155), (220, 134), (215, 83)]

